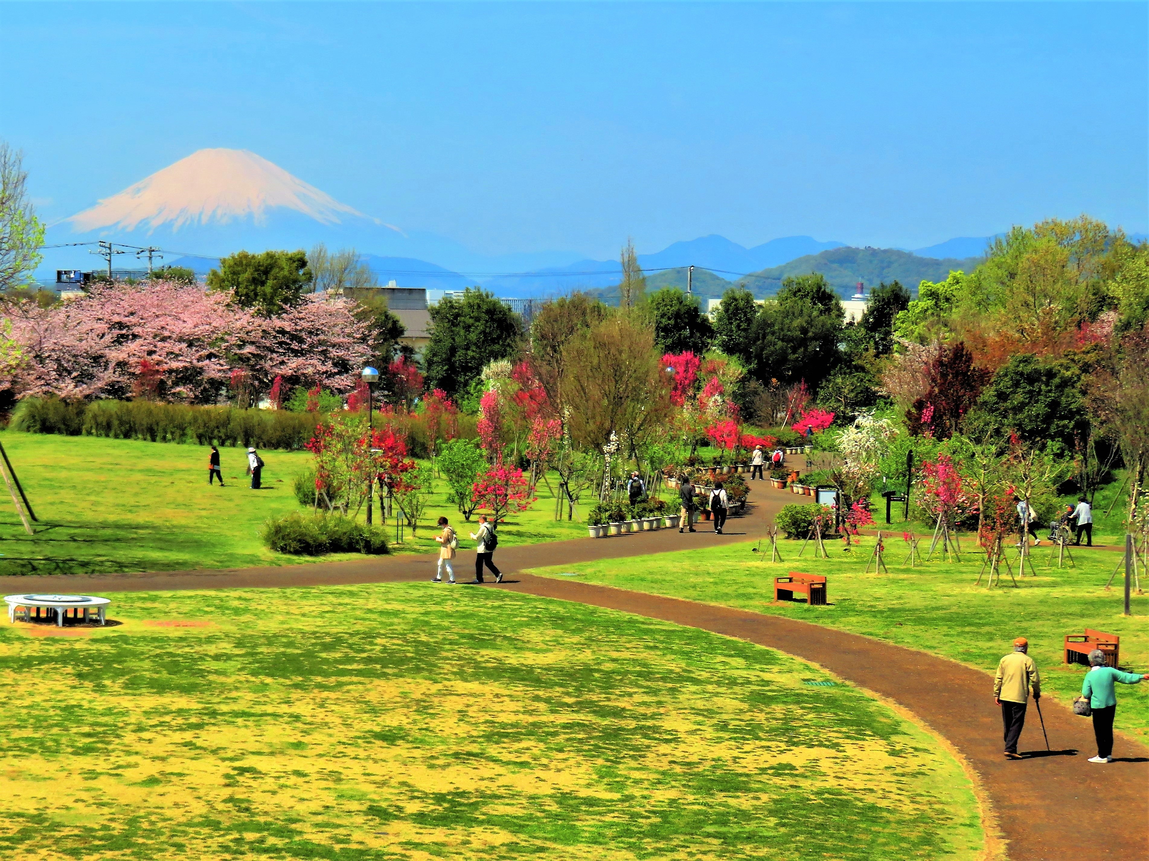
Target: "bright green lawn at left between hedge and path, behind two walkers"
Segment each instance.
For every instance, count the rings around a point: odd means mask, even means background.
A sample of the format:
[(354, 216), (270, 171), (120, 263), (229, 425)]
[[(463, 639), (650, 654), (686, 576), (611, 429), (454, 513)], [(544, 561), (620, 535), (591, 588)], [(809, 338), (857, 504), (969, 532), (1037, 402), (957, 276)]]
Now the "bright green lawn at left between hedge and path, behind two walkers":
[[(306, 451), (263, 457), (263, 490), (250, 490), (242, 449), (222, 448), (226, 484), (207, 483), (208, 449), (134, 440), (0, 433), (9, 458), (41, 519), (34, 537), (21, 527), (7, 492), (0, 497), (0, 575), (183, 571), (315, 561), (273, 553), (260, 541), (269, 517), (302, 510), (292, 490), (309, 461)], [(554, 480), (552, 479), (554, 484)], [(557, 486), (556, 486), (557, 487)], [(504, 546), (585, 536), (576, 522), (553, 519), (554, 496), (539, 486), (539, 502), (500, 527)], [(378, 515), (378, 511), (376, 512)], [(442, 482), (424, 515), (425, 527), (396, 552), (438, 548), (430, 525), (444, 514), (460, 527), (462, 546), (477, 523), (463, 521), (446, 501)], [(361, 515), (362, 517), (362, 515)], [(387, 523), (390, 541), (394, 521)], [(352, 554), (322, 557), (329, 561)]]

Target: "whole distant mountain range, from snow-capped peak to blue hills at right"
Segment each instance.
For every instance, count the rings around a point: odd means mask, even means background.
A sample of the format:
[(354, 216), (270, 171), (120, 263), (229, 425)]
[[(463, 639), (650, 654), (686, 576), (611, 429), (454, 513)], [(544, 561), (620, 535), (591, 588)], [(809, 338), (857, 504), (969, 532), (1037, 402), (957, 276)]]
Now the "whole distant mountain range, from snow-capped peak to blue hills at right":
[[(1001, 234), (998, 234), (1001, 235)], [(1136, 240), (1139, 234), (1131, 239)], [(1140, 236), (1143, 238), (1143, 236)], [(785, 236), (747, 248), (725, 236), (674, 242), (639, 255), (651, 289), (685, 287), (719, 296), (732, 284), (758, 296), (777, 292), (791, 274), (822, 272), (841, 293), (897, 279), (911, 289), (939, 280), (950, 269), (971, 269), (993, 236), (950, 239), (913, 251), (850, 248), (838, 241)], [(134, 247), (162, 249), (162, 265), (207, 272), (216, 258), (239, 249), (357, 248), (381, 284), (458, 290), (481, 285), (500, 296), (546, 297), (589, 289), (609, 294), (620, 280), (618, 261), (579, 259), (571, 251), (477, 255), (431, 233), (406, 232), (340, 203), (255, 153), (201, 149), (123, 192), (51, 225), (45, 243), (92, 243), (52, 248), (41, 277), (55, 269), (100, 269), (88, 251), (95, 240), (122, 243), (116, 269), (140, 267)], [(180, 249), (180, 250), (172, 250)], [(213, 256), (214, 255), (214, 256)], [(431, 263), (430, 261), (435, 261)]]

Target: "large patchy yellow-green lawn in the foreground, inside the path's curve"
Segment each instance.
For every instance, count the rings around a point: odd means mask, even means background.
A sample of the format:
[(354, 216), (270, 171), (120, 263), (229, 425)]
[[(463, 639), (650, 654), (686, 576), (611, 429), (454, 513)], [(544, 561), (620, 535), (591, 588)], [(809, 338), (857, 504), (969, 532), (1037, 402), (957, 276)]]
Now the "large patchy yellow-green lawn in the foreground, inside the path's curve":
[[(338, 611), (338, 612), (333, 612)], [(974, 859), (882, 704), (691, 628), (426, 584), (0, 623), (7, 859)]]

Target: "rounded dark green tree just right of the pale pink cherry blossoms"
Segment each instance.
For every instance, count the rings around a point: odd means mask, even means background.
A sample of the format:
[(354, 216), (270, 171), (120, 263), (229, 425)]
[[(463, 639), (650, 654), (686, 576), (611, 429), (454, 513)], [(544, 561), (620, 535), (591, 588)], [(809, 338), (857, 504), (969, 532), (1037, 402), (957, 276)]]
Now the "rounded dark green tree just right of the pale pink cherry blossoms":
[(431, 342), (423, 354), (429, 388), (455, 397), (487, 363), (511, 358), (519, 350), (519, 316), (478, 287), (468, 288), (462, 298), (445, 296), (430, 310)]

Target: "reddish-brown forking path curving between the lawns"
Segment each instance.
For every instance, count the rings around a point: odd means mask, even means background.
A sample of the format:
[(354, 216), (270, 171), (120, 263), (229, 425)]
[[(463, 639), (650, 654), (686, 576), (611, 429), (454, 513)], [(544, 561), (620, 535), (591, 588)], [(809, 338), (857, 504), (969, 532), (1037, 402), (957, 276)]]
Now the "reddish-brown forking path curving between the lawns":
[[(793, 495), (763, 489), (755, 497), (757, 504), (747, 517), (731, 520), (725, 536), (715, 535), (709, 525), (703, 525), (704, 530), (694, 535), (657, 530), (506, 548), (499, 551), (499, 565), (514, 572), (757, 540), (778, 509), (793, 502)], [(456, 575), (469, 579), (470, 554), (461, 554), (457, 561)], [(401, 556), (264, 568), (2, 577), (0, 589), (9, 594), (336, 585), (423, 580), (433, 568), (433, 556)], [(514, 580), (517, 582), (500, 588), (739, 637), (820, 664), (849, 682), (888, 697), (947, 738), (978, 771), (1012, 861), (1149, 858), (1149, 750), (1119, 737), (1119, 761), (1108, 766), (1087, 762), (1095, 752), (1090, 723), (1064, 706), (1047, 700), (1042, 709), (1054, 754), (1044, 751), (1038, 715), (1031, 706), (1023, 751), (1034, 755), (1010, 762), (1002, 758), (1001, 719), (990, 697), (992, 681), (979, 670), (781, 616), (529, 574), (516, 574)]]

